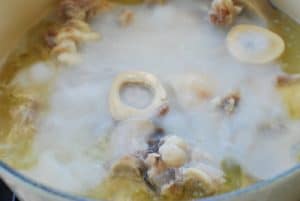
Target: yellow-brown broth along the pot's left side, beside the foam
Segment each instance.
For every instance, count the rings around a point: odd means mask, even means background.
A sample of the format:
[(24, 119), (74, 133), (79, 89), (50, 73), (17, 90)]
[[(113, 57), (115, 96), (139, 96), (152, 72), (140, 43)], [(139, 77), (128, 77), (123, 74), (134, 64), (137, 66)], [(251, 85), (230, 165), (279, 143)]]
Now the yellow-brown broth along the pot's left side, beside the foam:
[(49, 50), (42, 38), (49, 26), (49, 22), (43, 21), (33, 27), (8, 57), (0, 72), (0, 158), (17, 169), (30, 168), (35, 163), (31, 150), (35, 129), (34, 125), (23, 128), (19, 119), (11, 117), (11, 112), (14, 108), (29, 104), (33, 94), (39, 94), (40, 104), (45, 104), (48, 86), (21, 89), (8, 84), (21, 70), (49, 58)]

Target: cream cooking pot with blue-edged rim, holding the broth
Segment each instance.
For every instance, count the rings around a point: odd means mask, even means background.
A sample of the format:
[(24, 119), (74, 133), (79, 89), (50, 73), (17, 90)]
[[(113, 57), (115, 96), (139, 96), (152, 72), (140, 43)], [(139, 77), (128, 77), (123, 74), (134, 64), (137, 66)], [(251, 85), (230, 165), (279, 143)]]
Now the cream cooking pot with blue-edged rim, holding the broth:
[[(22, 35), (39, 21), (53, 6), (53, 0), (2, 1), (0, 13), (0, 62), (5, 61), (10, 50)], [(300, 22), (298, 0), (273, 0), (273, 4)], [(274, 8), (275, 9), (275, 8)], [(88, 201), (90, 199), (68, 194), (31, 180), (0, 161), (0, 177), (23, 201)], [(57, 178), (60, 179), (60, 178)], [(299, 201), (300, 165), (282, 174), (260, 181), (234, 192), (201, 199), (203, 201)]]

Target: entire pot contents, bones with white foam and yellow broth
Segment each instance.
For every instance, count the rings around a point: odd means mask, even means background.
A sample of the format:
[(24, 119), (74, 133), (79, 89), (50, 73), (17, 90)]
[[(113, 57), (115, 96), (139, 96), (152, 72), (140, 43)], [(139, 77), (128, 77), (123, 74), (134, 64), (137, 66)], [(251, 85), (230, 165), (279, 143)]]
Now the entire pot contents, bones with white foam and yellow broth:
[(1, 159), (106, 200), (199, 198), (297, 164), (298, 78), (268, 19), (231, 1), (130, 3), (65, 0), (28, 34), (1, 72)]

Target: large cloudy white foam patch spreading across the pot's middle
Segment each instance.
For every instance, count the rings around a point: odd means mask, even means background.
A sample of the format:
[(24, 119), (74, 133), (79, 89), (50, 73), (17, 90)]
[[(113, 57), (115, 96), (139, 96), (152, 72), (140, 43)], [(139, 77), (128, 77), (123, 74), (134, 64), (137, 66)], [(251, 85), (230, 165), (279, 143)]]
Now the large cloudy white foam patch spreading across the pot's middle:
[[(214, 85), (214, 96), (240, 90), (241, 102), (232, 116), (220, 114), (209, 102), (183, 110), (168, 90), (171, 110), (160, 124), (216, 160), (236, 158), (259, 178), (296, 164), (290, 147), (297, 143), (300, 126), (287, 120), (274, 89), (273, 80), (280, 73), (277, 64), (255, 66), (231, 57), (225, 47), (227, 30), (208, 22), (204, 2), (174, 0), (166, 6), (130, 9), (135, 21), (127, 28), (118, 24), (121, 10), (97, 16), (92, 26), (102, 40), (83, 47), (83, 63), (59, 75), (50, 111), (41, 119), (35, 139), (40, 160), (28, 175), (62, 190), (84, 192), (105, 175), (103, 155), (144, 146), (136, 142), (131, 146), (127, 138), (118, 146), (99, 147), (114, 125), (108, 110), (110, 86), (126, 70), (153, 73), (168, 89), (177, 78), (204, 74)], [(241, 17), (238, 23), (262, 22)], [(283, 130), (258, 131), (261, 122), (277, 120), (285, 124)], [(100, 156), (89, 154), (97, 149)]]

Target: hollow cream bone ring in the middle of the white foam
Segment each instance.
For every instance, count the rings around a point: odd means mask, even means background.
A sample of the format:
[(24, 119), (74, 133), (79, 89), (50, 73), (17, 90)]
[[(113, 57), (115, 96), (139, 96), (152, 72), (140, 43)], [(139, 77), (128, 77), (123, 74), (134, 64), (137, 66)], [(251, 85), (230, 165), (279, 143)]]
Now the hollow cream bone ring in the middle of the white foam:
[[(153, 100), (146, 108), (135, 108), (123, 103), (120, 97), (120, 89), (126, 84), (141, 84), (153, 92)], [(134, 116), (151, 117), (168, 104), (167, 93), (160, 81), (147, 72), (132, 71), (119, 74), (113, 82), (109, 106), (112, 117), (115, 120), (126, 120)]]

